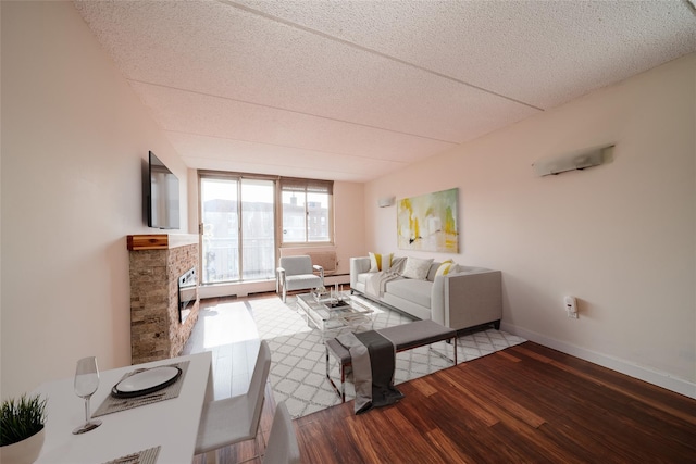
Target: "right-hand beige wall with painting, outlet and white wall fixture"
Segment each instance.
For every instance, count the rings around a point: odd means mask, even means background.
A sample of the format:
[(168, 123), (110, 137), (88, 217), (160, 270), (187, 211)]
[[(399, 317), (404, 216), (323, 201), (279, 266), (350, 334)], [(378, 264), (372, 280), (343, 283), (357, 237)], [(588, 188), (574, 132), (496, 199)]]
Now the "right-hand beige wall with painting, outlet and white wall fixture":
[[(458, 187), (453, 258), (502, 271), (505, 329), (696, 398), (695, 89), (692, 54), (380, 178), (365, 187), (369, 247), (398, 251), (396, 208), (378, 197)], [(605, 142), (610, 164), (532, 172)]]

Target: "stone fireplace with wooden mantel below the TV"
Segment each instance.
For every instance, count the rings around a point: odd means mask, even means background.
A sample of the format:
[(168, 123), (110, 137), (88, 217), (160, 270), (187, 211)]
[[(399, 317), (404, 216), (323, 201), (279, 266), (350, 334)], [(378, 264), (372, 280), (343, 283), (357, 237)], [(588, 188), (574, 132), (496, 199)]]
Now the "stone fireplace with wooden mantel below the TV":
[(178, 356), (198, 319), (196, 286), (188, 317), (179, 322), (179, 278), (198, 268), (198, 236), (135, 235), (127, 242), (132, 363)]

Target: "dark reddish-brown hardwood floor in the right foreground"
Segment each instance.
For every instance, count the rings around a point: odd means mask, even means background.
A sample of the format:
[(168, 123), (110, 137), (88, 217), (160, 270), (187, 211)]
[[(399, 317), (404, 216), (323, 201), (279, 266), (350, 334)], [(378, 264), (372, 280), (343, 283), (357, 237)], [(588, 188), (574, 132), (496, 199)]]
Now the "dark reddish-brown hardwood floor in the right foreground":
[[(356, 416), (349, 401), (295, 421), (302, 461), (696, 462), (696, 400), (533, 342), (398, 387), (406, 398), (388, 407)], [(275, 409), (266, 394), (263, 437)], [(240, 443), (219, 462), (253, 454)]]

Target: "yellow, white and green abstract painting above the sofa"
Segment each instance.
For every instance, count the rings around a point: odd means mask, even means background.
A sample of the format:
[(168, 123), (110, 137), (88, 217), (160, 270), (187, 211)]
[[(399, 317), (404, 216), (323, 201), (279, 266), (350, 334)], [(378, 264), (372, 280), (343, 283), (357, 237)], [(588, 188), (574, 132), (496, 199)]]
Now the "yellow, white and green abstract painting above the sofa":
[(459, 253), (459, 189), (436, 191), (397, 202), (400, 250)]

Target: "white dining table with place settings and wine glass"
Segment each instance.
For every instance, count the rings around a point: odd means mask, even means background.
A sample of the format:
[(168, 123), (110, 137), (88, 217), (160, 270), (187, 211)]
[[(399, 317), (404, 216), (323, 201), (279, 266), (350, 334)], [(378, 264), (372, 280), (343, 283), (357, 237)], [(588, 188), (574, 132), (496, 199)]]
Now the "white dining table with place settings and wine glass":
[(91, 398), (91, 413), (126, 373), (183, 361), (189, 364), (178, 397), (99, 416), (102, 424), (82, 435), (72, 432), (85, 422), (85, 402), (75, 394), (74, 379), (41, 385), (35, 393), (47, 398), (48, 418), (37, 463), (99, 464), (160, 447), (158, 464), (190, 464), (203, 403), (213, 399), (210, 352), (101, 372), (99, 388)]

